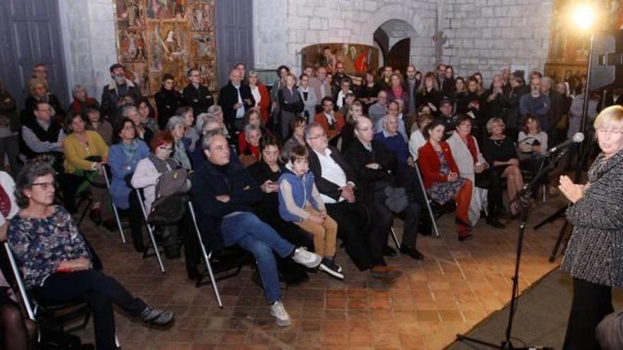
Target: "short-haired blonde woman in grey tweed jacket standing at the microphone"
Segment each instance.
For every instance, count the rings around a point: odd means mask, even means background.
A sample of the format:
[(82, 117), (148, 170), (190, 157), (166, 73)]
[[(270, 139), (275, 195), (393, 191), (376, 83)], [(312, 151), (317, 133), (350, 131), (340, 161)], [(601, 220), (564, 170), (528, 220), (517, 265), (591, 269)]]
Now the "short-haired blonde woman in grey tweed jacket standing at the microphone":
[(573, 277), (573, 301), (564, 350), (600, 349), (595, 327), (612, 313), (612, 287), (623, 287), (623, 107), (603, 110), (594, 123), (602, 153), (588, 183), (560, 177), (573, 203), (566, 212), (573, 234), (561, 269)]

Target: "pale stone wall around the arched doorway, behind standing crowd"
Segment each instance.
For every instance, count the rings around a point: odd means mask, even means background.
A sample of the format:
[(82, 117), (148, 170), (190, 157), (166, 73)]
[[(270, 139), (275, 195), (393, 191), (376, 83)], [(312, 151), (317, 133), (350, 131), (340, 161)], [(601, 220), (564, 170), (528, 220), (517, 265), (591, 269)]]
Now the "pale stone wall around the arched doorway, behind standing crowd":
[(431, 69), (436, 62), (431, 40), (436, 0), (258, 0), (253, 6), (259, 69), (286, 64), (299, 71), (301, 49), (320, 42), (373, 45), (375, 30), (390, 20), (412, 27), (411, 62), (418, 69)]

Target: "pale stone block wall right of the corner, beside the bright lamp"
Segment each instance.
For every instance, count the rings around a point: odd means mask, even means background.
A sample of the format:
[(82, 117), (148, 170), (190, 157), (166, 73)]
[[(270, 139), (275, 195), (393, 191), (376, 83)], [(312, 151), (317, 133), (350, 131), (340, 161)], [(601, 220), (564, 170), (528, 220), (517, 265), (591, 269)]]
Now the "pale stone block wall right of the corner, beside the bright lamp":
[(481, 71), (485, 81), (511, 64), (543, 71), (551, 0), (440, 0), (442, 61), (455, 76)]

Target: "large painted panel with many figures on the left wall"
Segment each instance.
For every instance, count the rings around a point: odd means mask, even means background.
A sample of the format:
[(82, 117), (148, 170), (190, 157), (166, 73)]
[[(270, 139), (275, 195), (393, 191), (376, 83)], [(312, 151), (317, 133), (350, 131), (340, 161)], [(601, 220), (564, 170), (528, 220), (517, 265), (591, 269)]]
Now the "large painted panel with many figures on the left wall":
[(165, 73), (183, 88), (191, 68), (199, 69), (210, 91), (218, 90), (215, 0), (113, 1), (118, 60), (143, 95), (159, 91)]

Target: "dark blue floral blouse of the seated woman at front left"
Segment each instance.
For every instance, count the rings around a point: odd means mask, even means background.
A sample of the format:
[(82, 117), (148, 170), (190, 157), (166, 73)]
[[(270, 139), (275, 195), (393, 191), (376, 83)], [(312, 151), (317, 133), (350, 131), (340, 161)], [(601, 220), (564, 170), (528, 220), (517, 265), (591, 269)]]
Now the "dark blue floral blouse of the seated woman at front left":
[(7, 235), (8, 245), (29, 289), (42, 286), (60, 262), (79, 257), (91, 259), (72, 216), (62, 206), (56, 206), (47, 218), (13, 216)]

